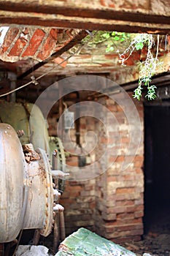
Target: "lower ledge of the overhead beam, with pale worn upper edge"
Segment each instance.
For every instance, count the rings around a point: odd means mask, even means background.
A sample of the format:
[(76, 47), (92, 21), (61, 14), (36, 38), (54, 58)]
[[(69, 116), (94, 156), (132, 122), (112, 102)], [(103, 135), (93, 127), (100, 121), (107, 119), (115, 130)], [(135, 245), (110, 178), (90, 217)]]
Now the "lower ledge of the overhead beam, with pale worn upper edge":
[(128, 33), (150, 33), (150, 34), (170, 34), (170, 23), (163, 24), (148, 24), (148, 23), (133, 23), (122, 20), (98, 20), (90, 18), (72, 17), (54, 17), (47, 15), (15, 15), (15, 12), (10, 14), (2, 13), (0, 11), (1, 26), (11, 26), (16, 24), (26, 26), (48, 26), (57, 28), (72, 28), (72, 29), (86, 29), (86, 30), (106, 30), (106, 31), (123, 31)]

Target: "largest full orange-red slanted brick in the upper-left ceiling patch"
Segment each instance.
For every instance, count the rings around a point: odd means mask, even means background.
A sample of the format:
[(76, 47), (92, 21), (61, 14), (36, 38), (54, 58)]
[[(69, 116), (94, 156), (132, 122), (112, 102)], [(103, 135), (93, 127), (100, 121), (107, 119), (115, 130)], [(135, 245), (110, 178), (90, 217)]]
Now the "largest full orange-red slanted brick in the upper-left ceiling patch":
[(41, 45), (42, 39), (44, 37), (45, 32), (42, 29), (36, 29), (36, 31), (34, 31), (33, 36), (31, 37), (28, 47), (26, 48), (22, 56), (34, 56), (34, 54), (39, 48), (39, 45)]

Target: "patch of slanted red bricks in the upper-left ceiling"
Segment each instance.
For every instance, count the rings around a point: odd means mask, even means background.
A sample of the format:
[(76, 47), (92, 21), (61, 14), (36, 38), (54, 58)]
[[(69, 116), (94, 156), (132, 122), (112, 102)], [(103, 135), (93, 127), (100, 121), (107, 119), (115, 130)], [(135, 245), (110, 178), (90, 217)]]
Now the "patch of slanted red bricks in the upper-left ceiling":
[(61, 50), (78, 32), (76, 29), (11, 26), (1, 43), (0, 59), (9, 62), (28, 58), (44, 61)]

